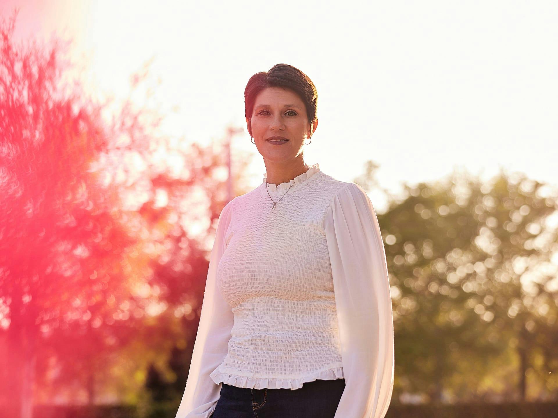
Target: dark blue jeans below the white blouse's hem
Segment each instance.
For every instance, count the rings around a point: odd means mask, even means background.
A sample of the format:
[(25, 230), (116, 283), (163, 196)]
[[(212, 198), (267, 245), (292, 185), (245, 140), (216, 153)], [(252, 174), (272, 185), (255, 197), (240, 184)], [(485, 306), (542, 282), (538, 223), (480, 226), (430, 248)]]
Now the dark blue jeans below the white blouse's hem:
[(344, 389), (344, 379), (314, 380), (296, 390), (222, 383), (210, 418), (333, 418)]

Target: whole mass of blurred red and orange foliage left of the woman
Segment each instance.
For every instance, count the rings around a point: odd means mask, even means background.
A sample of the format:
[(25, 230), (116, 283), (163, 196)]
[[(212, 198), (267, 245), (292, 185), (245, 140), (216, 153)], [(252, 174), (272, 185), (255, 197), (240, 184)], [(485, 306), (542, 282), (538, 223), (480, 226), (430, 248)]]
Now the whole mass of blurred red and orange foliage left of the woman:
[[(138, 387), (115, 381), (111, 367), (125, 375), (174, 346), (187, 363), (208, 268), (201, 241), (227, 203), (215, 176), (223, 153), (194, 144), (180, 151), (186, 175), (161, 168), (153, 155), (176, 150), (153, 132), (160, 119), (128, 101), (105, 123), (103, 104), (62, 83), (60, 43), (16, 47), (14, 26), (15, 17), (0, 28), (0, 407), (8, 418), (30, 417), (37, 393), (49, 403), (85, 390), (93, 403), (107, 386)], [(200, 189), (209, 214), (191, 213)], [(186, 225), (208, 215), (207, 235), (189, 236)], [(151, 302), (162, 312), (146, 313)]]

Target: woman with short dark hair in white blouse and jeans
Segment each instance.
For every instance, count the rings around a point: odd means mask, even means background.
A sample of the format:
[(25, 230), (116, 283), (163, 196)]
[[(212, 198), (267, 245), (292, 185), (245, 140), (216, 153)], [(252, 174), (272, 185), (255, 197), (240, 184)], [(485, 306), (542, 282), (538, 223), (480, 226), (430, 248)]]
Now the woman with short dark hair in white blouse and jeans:
[(219, 216), (176, 418), (386, 415), (394, 359), (382, 236), (362, 187), (304, 162), (317, 98), (286, 64), (248, 81), (248, 133), (266, 173)]

